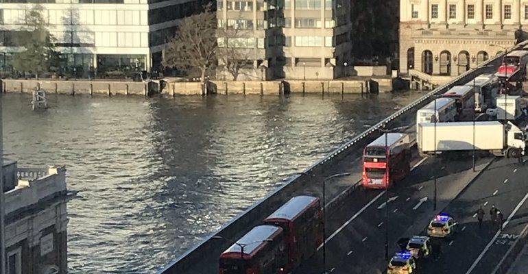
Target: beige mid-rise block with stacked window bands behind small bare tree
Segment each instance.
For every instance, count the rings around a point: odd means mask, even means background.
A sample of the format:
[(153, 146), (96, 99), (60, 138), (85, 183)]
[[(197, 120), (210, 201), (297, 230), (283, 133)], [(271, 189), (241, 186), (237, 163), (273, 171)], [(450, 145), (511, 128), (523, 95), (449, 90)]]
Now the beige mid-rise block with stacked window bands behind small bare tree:
[[(217, 1), (218, 79), (335, 79), (352, 50), (350, 1)], [(229, 52), (236, 52), (230, 54)]]

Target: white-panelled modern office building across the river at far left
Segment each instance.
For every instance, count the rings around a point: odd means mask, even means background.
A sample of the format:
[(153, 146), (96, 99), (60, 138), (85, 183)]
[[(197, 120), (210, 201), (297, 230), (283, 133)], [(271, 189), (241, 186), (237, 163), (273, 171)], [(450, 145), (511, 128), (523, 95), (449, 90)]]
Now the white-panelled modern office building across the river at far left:
[(34, 2), (56, 46), (78, 76), (89, 71), (149, 71), (173, 36), (178, 19), (201, 5), (194, 0), (3, 0), (0, 2), (0, 71), (11, 71), (12, 54), (23, 50), (16, 34), (27, 25)]

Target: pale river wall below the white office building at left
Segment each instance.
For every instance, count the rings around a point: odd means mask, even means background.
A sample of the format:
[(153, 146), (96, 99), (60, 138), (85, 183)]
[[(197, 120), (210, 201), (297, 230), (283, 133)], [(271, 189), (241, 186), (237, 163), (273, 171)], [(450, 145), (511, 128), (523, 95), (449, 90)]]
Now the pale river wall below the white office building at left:
[(152, 95), (159, 92), (159, 83), (123, 81), (77, 81), (59, 79), (2, 79), (2, 92), (31, 94), (42, 88), (61, 95)]

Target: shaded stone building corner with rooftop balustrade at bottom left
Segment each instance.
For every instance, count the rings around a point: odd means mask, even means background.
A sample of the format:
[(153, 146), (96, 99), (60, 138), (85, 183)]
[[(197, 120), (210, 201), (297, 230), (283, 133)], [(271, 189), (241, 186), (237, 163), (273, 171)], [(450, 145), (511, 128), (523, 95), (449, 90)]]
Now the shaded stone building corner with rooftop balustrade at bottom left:
[(66, 203), (74, 195), (67, 192), (66, 169), (19, 169), (5, 161), (3, 176), (5, 273), (67, 273)]

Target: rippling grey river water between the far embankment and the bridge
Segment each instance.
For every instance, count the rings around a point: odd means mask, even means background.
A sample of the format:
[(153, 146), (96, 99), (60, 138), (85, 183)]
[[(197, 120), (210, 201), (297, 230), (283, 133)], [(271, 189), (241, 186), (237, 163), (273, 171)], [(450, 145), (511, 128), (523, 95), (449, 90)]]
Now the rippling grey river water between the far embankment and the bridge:
[(153, 273), (419, 93), (1, 95), (6, 158), (67, 165), (69, 273)]

